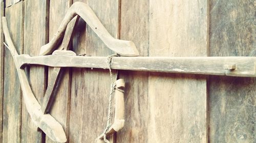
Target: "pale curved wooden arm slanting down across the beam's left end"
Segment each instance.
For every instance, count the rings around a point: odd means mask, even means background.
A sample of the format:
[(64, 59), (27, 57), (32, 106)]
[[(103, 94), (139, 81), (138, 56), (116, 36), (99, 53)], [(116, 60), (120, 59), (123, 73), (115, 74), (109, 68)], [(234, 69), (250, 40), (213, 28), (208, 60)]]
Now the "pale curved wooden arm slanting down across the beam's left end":
[(15, 57), (18, 55), (18, 53), (10, 37), (6, 17), (2, 17), (2, 21), (5, 40), (8, 44), (8, 49), (10, 50), (13, 57), (13, 61), (15, 63), (20, 86), (22, 87), (23, 91), (25, 105), (32, 121), (36, 124), (36, 126), (38, 126), (42, 131), (44, 131), (45, 134), (49, 136), (53, 141), (66, 142), (67, 138), (62, 126), (51, 115), (44, 115), (44, 113), (41, 111), (41, 106), (36, 100), (30, 88), (25, 70), (20, 69), (18, 66), (18, 61)]

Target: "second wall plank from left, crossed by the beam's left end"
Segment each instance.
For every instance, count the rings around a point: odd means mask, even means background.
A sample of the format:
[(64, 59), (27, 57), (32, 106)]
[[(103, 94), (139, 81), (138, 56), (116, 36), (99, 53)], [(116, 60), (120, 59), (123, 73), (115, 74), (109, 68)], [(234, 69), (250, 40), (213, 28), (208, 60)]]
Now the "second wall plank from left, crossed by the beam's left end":
[[(16, 4), (15, 4), (16, 5)], [(24, 53), (36, 56), (40, 47), (48, 42), (48, 15), (47, 1), (25, 1), (24, 12)], [(31, 66), (28, 70), (32, 91), (41, 103), (45, 86), (45, 67)], [(24, 100), (23, 100), (24, 103)], [(42, 132), (37, 131), (37, 126), (31, 120), (25, 104), (22, 108), (22, 142), (41, 142), (44, 138)]]

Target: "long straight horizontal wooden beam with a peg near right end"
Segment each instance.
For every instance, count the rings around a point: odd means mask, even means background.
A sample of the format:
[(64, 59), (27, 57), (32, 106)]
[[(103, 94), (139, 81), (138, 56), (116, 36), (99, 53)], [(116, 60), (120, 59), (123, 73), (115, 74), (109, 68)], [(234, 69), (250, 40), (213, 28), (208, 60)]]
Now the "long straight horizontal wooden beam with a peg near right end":
[[(106, 57), (18, 55), (20, 68), (29, 64), (50, 67), (107, 68)], [(256, 77), (256, 57), (114, 57), (112, 69)]]

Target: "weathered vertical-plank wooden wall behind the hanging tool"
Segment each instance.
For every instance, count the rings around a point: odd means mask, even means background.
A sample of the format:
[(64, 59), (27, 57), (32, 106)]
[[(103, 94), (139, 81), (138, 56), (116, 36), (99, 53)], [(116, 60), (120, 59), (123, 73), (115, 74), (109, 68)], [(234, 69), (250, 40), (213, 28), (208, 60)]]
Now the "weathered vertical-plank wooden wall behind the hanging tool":
[[(1, 2), (19, 53), (38, 55), (77, 0)], [(140, 56), (256, 56), (252, 1), (82, 0), (115, 38), (133, 41)], [(0, 140), (53, 142), (31, 122), (1, 31)], [(77, 54), (113, 54), (79, 19)], [(52, 68), (27, 75), (42, 102)], [(255, 142), (255, 78), (119, 71), (126, 89), (125, 126), (111, 142)], [(50, 114), (68, 142), (94, 142), (106, 125), (108, 70), (66, 68)], [(0, 142), (1, 142), (0, 141)]]

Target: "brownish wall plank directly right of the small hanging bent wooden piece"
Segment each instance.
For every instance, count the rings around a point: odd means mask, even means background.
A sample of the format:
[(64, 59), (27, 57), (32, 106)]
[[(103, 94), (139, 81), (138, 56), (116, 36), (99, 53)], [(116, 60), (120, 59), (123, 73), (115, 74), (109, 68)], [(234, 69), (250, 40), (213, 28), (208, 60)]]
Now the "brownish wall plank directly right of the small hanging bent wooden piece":
[[(121, 1), (120, 39), (131, 40), (140, 56), (148, 56), (149, 1)], [(116, 142), (147, 142), (148, 73), (120, 71), (125, 80), (125, 124)]]

